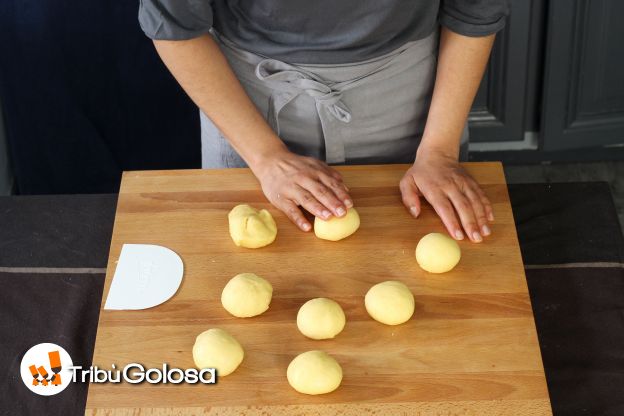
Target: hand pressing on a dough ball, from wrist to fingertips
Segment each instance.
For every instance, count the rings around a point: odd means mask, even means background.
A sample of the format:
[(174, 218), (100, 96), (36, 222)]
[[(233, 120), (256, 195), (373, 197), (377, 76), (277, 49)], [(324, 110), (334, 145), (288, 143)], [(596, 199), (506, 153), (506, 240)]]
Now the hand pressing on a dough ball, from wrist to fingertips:
[(316, 217), (342, 217), (353, 206), (342, 176), (327, 164), (287, 150), (263, 160), (254, 174), (268, 200), (301, 230), (312, 226), (299, 207)]

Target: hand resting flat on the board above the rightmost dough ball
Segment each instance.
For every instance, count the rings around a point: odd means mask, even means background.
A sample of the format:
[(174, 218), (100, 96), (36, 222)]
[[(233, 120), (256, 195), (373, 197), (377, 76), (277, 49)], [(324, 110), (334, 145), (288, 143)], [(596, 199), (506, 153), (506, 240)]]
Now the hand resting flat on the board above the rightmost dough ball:
[(436, 151), (419, 152), (399, 187), (403, 203), (414, 217), (420, 214), (420, 196), (424, 196), (455, 239), (464, 238), (462, 227), (476, 243), (490, 235), (492, 204), (456, 158)]

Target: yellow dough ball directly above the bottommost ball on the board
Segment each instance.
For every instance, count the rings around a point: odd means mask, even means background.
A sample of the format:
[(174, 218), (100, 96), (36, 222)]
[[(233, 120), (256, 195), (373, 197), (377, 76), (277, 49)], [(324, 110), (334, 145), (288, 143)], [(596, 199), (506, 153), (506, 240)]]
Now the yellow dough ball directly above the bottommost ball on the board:
[(308, 338), (333, 338), (342, 331), (344, 325), (344, 312), (340, 305), (331, 299), (311, 299), (304, 303), (297, 313), (297, 327)]

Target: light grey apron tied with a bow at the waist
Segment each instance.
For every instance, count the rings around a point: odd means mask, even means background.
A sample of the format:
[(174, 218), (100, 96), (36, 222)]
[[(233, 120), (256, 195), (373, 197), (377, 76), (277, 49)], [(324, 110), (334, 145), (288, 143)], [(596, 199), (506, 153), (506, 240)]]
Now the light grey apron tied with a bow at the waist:
[[(437, 31), (384, 56), (340, 65), (288, 64), (214, 36), (253, 103), (291, 151), (329, 164), (414, 161), (435, 80)], [(203, 168), (246, 166), (203, 112), (201, 141)], [(465, 160), (467, 125), (461, 143)]]

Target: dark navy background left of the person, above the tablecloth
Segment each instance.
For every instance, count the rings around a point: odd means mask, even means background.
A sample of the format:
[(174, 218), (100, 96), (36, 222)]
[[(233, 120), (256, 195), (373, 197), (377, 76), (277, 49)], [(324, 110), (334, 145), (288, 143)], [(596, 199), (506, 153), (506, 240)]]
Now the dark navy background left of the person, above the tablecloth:
[(0, 1), (0, 97), (18, 193), (117, 192), (122, 170), (200, 166), (199, 115), (138, 1)]

